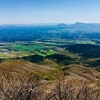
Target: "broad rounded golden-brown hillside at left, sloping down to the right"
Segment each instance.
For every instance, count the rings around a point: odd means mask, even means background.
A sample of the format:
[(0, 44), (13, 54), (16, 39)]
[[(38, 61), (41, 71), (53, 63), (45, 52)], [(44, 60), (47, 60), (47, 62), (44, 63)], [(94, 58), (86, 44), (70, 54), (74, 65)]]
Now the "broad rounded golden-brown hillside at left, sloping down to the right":
[(0, 71), (9, 73), (11, 76), (23, 77), (29, 73), (44, 79), (55, 79), (55, 68), (34, 64), (25, 60), (8, 60), (0, 64)]

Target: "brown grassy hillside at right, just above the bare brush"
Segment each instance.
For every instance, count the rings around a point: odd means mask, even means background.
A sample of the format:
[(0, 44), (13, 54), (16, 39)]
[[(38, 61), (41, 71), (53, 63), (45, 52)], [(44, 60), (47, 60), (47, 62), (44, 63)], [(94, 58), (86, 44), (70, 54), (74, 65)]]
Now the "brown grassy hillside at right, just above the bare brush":
[(85, 78), (92, 82), (100, 80), (100, 73), (93, 68), (84, 67), (77, 64), (71, 64), (62, 67), (62, 69), (69, 73), (70, 76)]

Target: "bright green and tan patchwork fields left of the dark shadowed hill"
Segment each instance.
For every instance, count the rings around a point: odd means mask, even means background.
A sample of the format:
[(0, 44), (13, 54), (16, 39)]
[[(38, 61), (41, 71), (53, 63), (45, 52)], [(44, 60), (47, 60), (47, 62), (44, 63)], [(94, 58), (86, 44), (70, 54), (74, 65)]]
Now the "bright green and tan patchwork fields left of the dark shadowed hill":
[(3, 43), (0, 58), (23, 57), (28, 55), (52, 55), (58, 53), (54, 47), (40, 43)]

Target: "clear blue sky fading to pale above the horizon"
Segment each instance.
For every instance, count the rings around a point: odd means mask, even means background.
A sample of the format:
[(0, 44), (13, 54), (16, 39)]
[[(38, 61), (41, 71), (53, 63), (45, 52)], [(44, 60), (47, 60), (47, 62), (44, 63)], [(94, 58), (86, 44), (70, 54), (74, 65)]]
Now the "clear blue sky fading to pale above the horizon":
[(0, 24), (100, 23), (100, 0), (0, 0)]

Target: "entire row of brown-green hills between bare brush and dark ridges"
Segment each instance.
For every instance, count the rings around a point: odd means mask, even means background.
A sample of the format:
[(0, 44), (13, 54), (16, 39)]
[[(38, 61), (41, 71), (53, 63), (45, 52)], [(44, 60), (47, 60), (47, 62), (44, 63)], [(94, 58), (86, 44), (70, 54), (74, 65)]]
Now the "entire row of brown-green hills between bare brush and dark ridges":
[(26, 60), (8, 60), (0, 63), (0, 71), (4, 71), (10, 76), (24, 77), (31, 73), (37, 78), (46, 80), (56, 79), (58, 70), (63, 70), (66, 77), (80, 77), (91, 81), (100, 80), (100, 73), (93, 68), (84, 67), (77, 64), (68, 66), (59, 66), (57, 63), (45, 59), (44, 61), (34, 64)]

